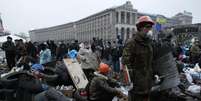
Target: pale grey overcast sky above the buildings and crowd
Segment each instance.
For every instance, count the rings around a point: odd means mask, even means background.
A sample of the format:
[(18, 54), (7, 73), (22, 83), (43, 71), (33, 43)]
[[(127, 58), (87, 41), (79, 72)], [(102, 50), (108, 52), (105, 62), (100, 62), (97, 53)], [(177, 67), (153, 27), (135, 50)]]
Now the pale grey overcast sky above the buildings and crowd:
[[(128, 0), (0, 0), (4, 28), (12, 33), (79, 20)], [(174, 16), (184, 10), (201, 22), (201, 0), (132, 0), (139, 12)]]

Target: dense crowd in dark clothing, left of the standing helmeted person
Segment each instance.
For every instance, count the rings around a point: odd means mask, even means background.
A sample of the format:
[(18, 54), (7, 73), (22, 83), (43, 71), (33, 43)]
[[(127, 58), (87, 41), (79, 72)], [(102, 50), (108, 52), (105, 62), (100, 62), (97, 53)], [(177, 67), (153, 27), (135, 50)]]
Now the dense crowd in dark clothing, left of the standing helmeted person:
[(71, 43), (58, 42), (57, 44), (52, 40), (44, 43), (23, 42), (23, 40), (13, 42), (11, 37), (7, 37), (7, 41), (3, 43), (1, 48), (5, 51), (9, 69), (16, 66), (22, 57), (29, 56), (33, 64), (45, 64), (62, 60), (71, 50), (79, 52), (80, 48), (84, 48), (95, 53), (99, 61), (108, 63), (115, 72), (120, 72), (119, 58), (122, 55), (123, 44), (121, 40), (103, 43), (101, 39), (97, 38), (93, 38), (91, 44), (89, 42), (78, 43), (77, 40)]

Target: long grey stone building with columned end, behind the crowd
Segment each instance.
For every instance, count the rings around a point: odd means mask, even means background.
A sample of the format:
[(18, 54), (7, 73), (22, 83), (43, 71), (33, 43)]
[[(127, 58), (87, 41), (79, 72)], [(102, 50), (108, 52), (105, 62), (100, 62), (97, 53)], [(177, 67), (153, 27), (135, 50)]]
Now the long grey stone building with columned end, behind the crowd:
[(84, 42), (92, 41), (93, 37), (111, 41), (116, 40), (117, 36), (126, 40), (136, 31), (136, 19), (137, 10), (127, 1), (121, 6), (106, 9), (75, 22), (31, 30), (29, 33), (33, 42), (47, 40)]

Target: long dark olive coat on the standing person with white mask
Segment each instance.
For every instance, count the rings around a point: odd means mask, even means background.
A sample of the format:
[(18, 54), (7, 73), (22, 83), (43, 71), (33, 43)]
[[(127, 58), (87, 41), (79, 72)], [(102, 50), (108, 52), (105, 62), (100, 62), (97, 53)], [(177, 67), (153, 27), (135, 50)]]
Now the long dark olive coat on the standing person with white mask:
[(141, 33), (128, 40), (123, 50), (122, 63), (129, 69), (135, 93), (149, 93), (152, 86), (153, 48)]

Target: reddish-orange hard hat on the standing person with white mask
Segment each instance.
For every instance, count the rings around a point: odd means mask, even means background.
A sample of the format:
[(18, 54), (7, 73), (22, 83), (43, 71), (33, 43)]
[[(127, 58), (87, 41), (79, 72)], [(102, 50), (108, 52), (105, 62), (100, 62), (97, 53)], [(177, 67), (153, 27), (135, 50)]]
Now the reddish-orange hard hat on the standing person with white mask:
[(150, 24), (154, 25), (154, 21), (149, 16), (141, 16), (137, 20), (136, 25), (139, 25), (141, 23), (150, 23)]

